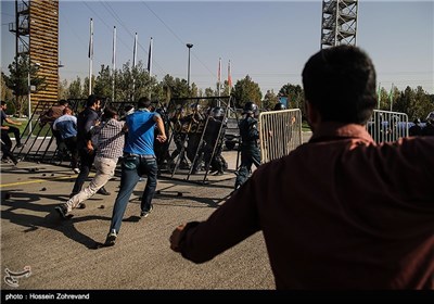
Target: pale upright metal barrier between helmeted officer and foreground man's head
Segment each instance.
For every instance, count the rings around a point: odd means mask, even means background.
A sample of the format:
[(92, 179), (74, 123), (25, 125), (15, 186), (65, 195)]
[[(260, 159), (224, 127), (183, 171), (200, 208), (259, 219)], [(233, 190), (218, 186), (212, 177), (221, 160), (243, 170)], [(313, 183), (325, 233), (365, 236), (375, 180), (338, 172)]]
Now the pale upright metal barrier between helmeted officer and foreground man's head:
[(302, 144), (302, 111), (290, 109), (259, 115), (261, 163), (288, 155)]

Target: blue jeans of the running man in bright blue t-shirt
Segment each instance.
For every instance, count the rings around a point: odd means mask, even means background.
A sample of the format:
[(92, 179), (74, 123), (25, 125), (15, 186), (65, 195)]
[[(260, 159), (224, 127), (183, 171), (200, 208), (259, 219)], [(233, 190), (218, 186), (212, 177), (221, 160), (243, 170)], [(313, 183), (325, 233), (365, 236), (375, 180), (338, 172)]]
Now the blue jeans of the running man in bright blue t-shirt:
[(119, 232), (129, 198), (131, 197), (140, 177), (143, 175), (148, 177), (148, 180), (146, 186), (144, 187), (140, 207), (144, 212), (151, 210), (152, 199), (154, 198), (156, 189), (157, 170), (156, 159), (153, 155), (124, 157), (122, 163), (120, 189), (113, 207), (110, 231), (115, 229), (116, 233)]

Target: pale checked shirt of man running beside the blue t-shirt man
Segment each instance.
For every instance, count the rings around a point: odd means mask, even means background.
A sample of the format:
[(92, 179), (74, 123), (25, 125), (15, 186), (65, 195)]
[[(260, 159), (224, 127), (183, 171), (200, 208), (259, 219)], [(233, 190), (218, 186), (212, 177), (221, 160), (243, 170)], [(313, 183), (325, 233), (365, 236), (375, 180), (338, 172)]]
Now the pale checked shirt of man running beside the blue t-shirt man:
[(125, 122), (112, 118), (92, 128), (95, 142), (98, 142), (97, 157), (118, 159), (123, 155), (125, 134), (122, 131)]

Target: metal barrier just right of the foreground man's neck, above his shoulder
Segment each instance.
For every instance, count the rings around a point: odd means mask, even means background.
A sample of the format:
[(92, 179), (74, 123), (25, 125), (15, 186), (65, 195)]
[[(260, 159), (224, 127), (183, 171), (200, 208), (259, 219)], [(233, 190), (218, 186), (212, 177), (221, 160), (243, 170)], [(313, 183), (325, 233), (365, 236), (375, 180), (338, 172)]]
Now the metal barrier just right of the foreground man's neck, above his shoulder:
[(408, 115), (399, 112), (374, 110), (367, 130), (378, 143), (408, 137)]

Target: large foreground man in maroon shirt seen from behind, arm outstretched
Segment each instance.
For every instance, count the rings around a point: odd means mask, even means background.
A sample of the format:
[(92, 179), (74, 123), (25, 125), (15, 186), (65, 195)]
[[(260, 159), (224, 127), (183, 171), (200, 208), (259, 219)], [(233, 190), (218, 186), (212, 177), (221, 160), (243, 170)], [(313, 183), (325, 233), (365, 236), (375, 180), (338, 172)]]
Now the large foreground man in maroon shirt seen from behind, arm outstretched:
[(433, 289), (434, 137), (376, 144), (362, 50), (319, 51), (303, 71), (312, 137), (261, 165), (170, 248), (204, 263), (261, 230), (277, 289)]

